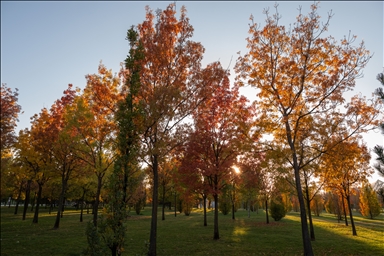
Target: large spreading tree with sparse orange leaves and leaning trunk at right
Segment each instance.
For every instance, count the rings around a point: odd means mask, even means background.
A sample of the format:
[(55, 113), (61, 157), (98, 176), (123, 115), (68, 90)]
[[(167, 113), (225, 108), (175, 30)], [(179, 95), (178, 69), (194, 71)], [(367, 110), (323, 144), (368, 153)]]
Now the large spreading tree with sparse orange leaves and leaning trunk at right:
[[(368, 105), (362, 97), (352, 98), (345, 111), (339, 109), (345, 104), (343, 93), (354, 87), (355, 79), (361, 76), (371, 56), (363, 42), (353, 46), (354, 36), (342, 39), (339, 44), (331, 36), (323, 38), (331, 14), (321, 24), (317, 8), (318, 3), (315, 3), (307, 16), (299, 13), (291, 30), (279, 24), (277, 11), (270, 16), (266, 10), (266, 26), (250, 25), (249, 51), (238, 58), (235, 67), (240, 86), (247, 84), (258, 89), (255, 104), (264, 112), (264, 121), (285, 134), (284, 145), (291, 153), (290, 164), (300, 203), (304, 255), (313, 255), (313, 251), (300, 170), (323, 154), (326, 140), (322, 137), (318, 143), (311, 143), (317, 154), (300, 159), (297, 143), (301, 140), (301, 131), (306, 123), (318, 128), (328, 119), (336, 129), (341, 127), (341, 120), (344, 124), (348, 120), (346, 128), (350, 136), (374, 125), (378, 113), (375, 106)], [(317, 130), (312, 132), (318, 133)]]

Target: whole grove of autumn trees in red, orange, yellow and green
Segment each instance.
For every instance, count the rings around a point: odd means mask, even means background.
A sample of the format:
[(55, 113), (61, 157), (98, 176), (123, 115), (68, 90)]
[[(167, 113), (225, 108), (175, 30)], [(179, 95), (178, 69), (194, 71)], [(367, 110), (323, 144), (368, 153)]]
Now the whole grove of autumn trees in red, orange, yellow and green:
[[(118, 74), (100, 63), (83, 89), (69, 85), (18, 136), (18, 91), (3, 84), (1, 198), (24, 200), (25, 220), (36, 191), (33, 223), (43, 202), (57, 205), (54, 229), (67, 200), (81, 211), (92, 204), (88, 255), (121, 255), (127, 216), (145, 202), (152, 205), (147, 254), (156, 255), (160, 199), (163, 221), (166, 203), (176, 217), (176, 209), (190, 214), (202, 202), (204, 226), (213, 203), (213, 239), (220, 238), (219, 206), (227, 204), (233, 219), (240, 204), (249, 214), (264, 206), (267, 223), (297, 209), (304, 255), (313, 255), (311, 214), (323, 208), (338, 219), (344, 214), (347, 225), (349, 214), (357, 235), (353, 208), (370, 218), (380, 211), (367, 184), (373, 170), (362, 135), (380, 125), (383, 92), (345, 96), (371, 55), (355, 36), (325, 36), (332, 15), (322, 21), (318, 8), (299, 9), (290, 28), (279, 24), (277, 6), (273, 15), (265, 11), (264, 26), (251, 17), (248, 50), (231, 84), (220, 62), (202, 66), (205, 49), (193, 41), (185, 7), (179, 17), (175, 4), (147, 7), (145, 20), (128, 29)], [(378, 79), (384, 85), (382, 74)], [(255, 88), (256, 100), (241, 95), (244, 86)], [(382, 147), (375, 153), (383, 173)]]

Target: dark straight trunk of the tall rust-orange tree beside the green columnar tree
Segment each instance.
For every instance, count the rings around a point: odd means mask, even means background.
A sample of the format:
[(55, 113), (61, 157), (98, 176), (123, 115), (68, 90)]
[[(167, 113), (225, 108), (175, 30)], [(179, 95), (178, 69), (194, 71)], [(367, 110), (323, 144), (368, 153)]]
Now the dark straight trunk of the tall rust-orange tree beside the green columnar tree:
[(151, 233), (149, 236), (148, 256), (156, 256), (156, 239), (157, 239), (157, 206), (158, 206), (158, 190), (159, 190), (159, 173), (158, 173), (158, 156), (153, 156), (153, 195), (152, 195), (152, 219)]

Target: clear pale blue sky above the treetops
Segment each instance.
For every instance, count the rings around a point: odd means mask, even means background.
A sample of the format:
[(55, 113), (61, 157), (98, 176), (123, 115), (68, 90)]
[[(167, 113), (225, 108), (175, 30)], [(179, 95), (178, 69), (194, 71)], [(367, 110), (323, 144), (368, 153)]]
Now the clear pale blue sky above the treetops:
[[(97, 73), (102, 62), (117, 73), (127, 56), (127, 30), (145, 19), (145, 6), (165, 9), (171, 1), (1, 1), (1, 83), (19, 89), (18, 128), (30, 127), (30, 117), (50, 108), (68, 84), (83, 89), (85, 75)], [(274, 13), (278, 4), (281, 24), (288, 26), (299, 14), (307, 14), (313, 1), (177, 1), (184, 5), (193, 40), (205, 48), (203, 66), (220, 60), (229, 67), (231, 81), (238, 52), (246, 53), (249, 17), (265, 25), (263, 10)], [(383, 72), (383, 2), (324, 1), (318, 10), (323, 22), (332, 10), (328, 33), (340, 40), (349, 33), (357, 35), (356, 45), (364, 40), (373, 54), (356, 81), (354, 94), (372, 97), (380, 87), (376, 75)], [(254, 89), (243, 93), (251, 100)], [(364, 136), (368, 147), (384, 145), (380, 132)], [(373, 163), (373, 161), (371, 161)], [(375, 181), (379, 176), (374, 175)], [(383, 178), (381, 178), (383, 180)]]

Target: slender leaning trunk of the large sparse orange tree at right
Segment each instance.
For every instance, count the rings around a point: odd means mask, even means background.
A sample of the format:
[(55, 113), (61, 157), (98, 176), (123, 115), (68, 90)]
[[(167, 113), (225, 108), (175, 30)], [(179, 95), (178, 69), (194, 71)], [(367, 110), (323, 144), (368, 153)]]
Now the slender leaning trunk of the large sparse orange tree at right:
[[(286, 118), (286, 117), (284, 117), (284, 118)], [(297, 160), (295, 145), (292, 141), (292, 130), (291, 130), (291, 127), (289, 125), (288, 118), (285, 121), (285, 128), (286, 128), (286, 134), (287, 134), (287, 141), (288, 141), (288, 144), (289, 144), (289, 146), (291, 148), (291, 152), (292, 152), (292, 162), (293, 162), (293, 170), (294, 170), (294, 174), (295, 174), (295, 184), (296, 184), (296, 190), (297, 190), (297, 197), (299, 199), (299, 205), (300, 205), (301, 235), (302, 235), (302, 239), (303, 239), (304, 256), (313, 256), (311, 238), (310, 238), (309, 232), (308, 232), (307, 216), (305, 213), (303, 189), (301, 187), (301, 181), (300, 181), (299, 164), (298, 164), (298, 160)]]

